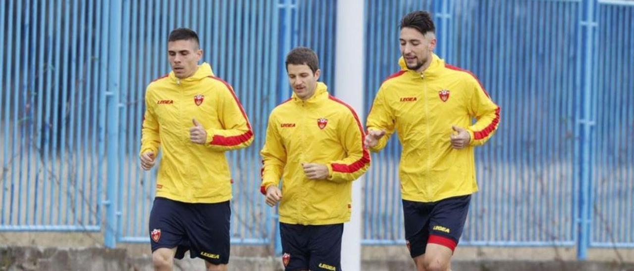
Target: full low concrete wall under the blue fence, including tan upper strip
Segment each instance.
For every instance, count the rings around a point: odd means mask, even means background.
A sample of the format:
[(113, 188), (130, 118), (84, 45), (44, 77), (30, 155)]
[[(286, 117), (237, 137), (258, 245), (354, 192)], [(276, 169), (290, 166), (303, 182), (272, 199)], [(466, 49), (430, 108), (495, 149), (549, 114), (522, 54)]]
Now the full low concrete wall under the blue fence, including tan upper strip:
[[(282, 270), (268, 246), (231, 247), (230, 270)], [(186, 255), (188, 257), (188, 255)], [(414, 270), (405, 246), (363, 246), (361, 270)], [(590, 249), (589, 262), (576, 262), (574, 247), (456, 248), (452, 269), (475, 270), (631, 270), (634, 249)], [(176, 261), (175, 270), (204, 270), (200, 259)], [(0, 232), (0, 271), (152, 270), (149, 244), (103, 248), (100, 232)]]

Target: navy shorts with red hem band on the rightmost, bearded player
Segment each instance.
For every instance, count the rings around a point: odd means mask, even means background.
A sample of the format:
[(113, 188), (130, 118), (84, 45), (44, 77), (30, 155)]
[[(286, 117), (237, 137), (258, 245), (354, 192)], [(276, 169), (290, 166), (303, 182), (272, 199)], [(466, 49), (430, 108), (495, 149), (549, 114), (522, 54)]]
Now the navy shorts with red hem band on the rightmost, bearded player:
[(414, 258), (425, 254), (427, 243), (440, 244), (453, 251), (462, 236), (471, 195), (422, 203), (403, 199), (405, 241)]

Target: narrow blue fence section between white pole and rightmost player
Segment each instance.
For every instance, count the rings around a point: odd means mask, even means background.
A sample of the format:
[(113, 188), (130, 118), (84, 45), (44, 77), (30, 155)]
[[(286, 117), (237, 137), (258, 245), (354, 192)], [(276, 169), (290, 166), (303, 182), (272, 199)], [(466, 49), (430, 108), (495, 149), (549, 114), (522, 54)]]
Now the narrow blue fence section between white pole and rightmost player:
[[(381, 82), (398, 71), (399, 20), (414, 10), (430, 10), (432, 1), (366, 1), (365, 106), (369, 111)], [(366, 112), (367, 116), (367, 112)], [(403, 208), (398, 181), (401, 146), (396, 136), (372, 154), (363, 186), (362, 244), (404, 244)]]

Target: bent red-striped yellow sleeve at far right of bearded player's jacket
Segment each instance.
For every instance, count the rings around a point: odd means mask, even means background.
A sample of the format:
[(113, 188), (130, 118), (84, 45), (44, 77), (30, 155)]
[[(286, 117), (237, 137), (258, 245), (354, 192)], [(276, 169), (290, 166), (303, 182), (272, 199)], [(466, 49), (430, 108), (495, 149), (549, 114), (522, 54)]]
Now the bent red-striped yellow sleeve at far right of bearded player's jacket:
[(476, 119), (476, 122), (467, 127), (467, 131), (469, 136), (471, 136), (469, 144), (471, 146), (480, 146), (488, 141), (498, 129), (500, 106), (493, 103), (489, 94), (484, 91), (484, 88), (475, 77), (471, 85), (473, 93), (469, 103), (469, 114)]

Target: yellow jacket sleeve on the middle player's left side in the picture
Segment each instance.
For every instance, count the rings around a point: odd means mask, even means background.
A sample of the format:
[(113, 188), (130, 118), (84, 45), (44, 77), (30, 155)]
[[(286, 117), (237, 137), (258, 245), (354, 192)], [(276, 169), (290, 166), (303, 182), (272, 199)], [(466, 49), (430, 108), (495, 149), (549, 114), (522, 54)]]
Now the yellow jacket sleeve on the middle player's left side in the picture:
[(264, 148), (260, 151), (262, 156), (262, 184), (260, 192), (266, 194), (269, 186), (278, 186), (281, 175), (286, 165), (286, 149), (282, 144), (280, 134), (273, 114), (269, 117), (269, 124), (266, 127), (266, 138)]

